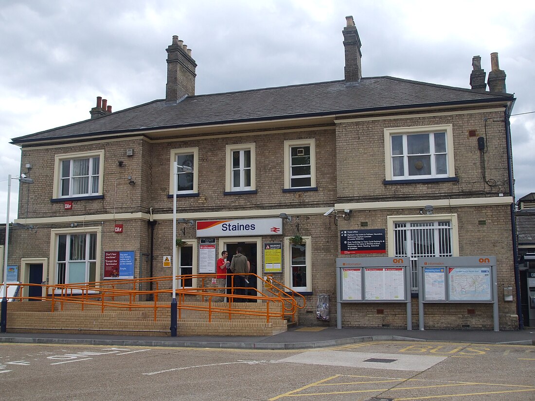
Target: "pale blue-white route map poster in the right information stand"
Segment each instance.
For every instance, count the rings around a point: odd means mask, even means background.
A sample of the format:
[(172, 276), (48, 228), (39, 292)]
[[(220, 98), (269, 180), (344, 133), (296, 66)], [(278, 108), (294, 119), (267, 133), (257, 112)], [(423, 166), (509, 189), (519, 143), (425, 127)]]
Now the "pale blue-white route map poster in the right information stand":
[(449, 300), (492, 300), (491, 269), (448, 267)]

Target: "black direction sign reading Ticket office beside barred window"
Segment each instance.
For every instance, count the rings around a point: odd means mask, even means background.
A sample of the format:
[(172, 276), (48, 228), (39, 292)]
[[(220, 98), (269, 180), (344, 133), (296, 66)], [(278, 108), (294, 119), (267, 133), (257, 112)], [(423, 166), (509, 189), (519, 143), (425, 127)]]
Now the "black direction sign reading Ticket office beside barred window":
[(386, 253), (385, 230), (340, 231), (340, 253)]

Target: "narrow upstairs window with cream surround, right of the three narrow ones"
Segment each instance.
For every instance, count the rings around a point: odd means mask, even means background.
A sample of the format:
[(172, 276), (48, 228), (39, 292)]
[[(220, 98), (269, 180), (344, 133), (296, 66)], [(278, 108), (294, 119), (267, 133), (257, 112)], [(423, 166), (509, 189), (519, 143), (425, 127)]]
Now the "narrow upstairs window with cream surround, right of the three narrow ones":
[(284, 188), (316, 187), (316, 140), (284, 141)]

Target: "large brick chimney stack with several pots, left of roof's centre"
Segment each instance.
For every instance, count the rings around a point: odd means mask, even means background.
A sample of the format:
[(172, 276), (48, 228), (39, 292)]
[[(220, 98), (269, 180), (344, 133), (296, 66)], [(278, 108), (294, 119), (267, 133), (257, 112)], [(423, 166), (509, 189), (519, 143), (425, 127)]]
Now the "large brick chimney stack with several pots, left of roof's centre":
[(195, 95), (195, 68), (197, 64), (192, 58), (192, 51), (184, 41), (173, 36), (173, 42), (167, 51), (167, 84), (165, 101), (177, 103), (186, 96)]

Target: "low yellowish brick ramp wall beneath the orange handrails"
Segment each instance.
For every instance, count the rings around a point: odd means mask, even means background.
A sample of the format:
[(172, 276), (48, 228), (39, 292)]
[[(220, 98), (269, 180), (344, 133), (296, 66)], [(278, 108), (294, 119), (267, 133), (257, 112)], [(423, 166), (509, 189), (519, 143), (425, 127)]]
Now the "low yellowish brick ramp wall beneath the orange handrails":
[[(41, 304), (41, 305), (34, 305)], [(154, 303), (140, 302), (142, 305)], [(166, 305), (167, 303), (158, 303)], [(197, 306), (204, 303), (192, 303)], [(10, 305), (11, 306), (11, 305)], [(169, 336), (170, 310), (158, 309), (157, 319), (154, 321), (154, 310), (146, 309), (132, 311), (117, 308), (107, 308), (101, 313), (101, 307), (86, 305), (84, 311), (78, 304), (55, 305), (55, 312), (50, 312), (48, 302), (21, 302), (17, 307), (8, 308), (8, 333), (78, 333), (78, 334), (108, 334), (108, 335), (144, 335)], [(235, 305), (246, 310), (265, 310), (262, 303)], [(272, 310), (272, 306), (270, 306)], [(279, 307), (280, 310), (280, 307)], [(187, 313), (186, 313), (187, 312)], [(266, 322), (264, 317), (232, 315), (228, 319), (228, 312), (213, 313), (211, 322), (207, 312), (182, 311), (178, 319), (177, 331), (179, 335), (223, 335), (223, 336), (270, 336), (287, 330), (287, 321), (271, 319)]]

